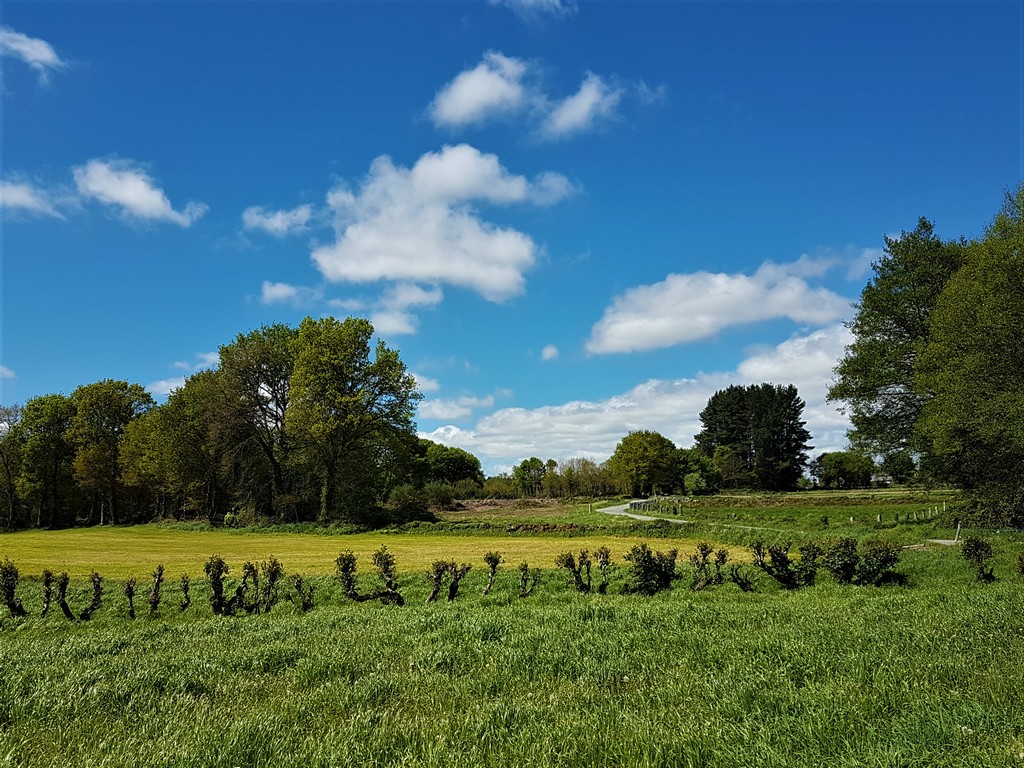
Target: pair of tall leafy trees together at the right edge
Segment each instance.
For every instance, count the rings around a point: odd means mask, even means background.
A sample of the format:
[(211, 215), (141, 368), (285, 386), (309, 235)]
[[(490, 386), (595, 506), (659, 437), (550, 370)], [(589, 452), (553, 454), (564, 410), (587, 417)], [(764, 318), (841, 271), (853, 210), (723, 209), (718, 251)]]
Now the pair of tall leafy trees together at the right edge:
[(1024, 184), (980, 238), (922, 218), (872, 269), (828, 392), (851, 447), (966, 489), (977, 522), (1024, 525)]

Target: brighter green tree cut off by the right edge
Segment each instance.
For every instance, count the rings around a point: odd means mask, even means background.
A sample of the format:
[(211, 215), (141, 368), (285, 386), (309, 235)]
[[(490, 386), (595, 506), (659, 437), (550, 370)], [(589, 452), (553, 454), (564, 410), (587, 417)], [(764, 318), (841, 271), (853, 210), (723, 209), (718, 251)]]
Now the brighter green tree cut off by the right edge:
[(929, 468), (1024, 522), (1024, 184), (945, 286), (918, 360)]

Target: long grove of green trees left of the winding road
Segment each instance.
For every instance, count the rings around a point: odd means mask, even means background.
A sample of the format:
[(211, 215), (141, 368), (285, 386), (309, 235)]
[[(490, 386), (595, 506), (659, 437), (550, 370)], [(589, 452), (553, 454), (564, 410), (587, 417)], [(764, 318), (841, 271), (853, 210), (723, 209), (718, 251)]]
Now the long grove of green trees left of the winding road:
[(163, 404), (105, 380), (4, 407), (0, 522), (379, 524), (481, 487), (476, 457), (416, 435), (416, 381), (372, 337), (307, 317), (240, 334)]

